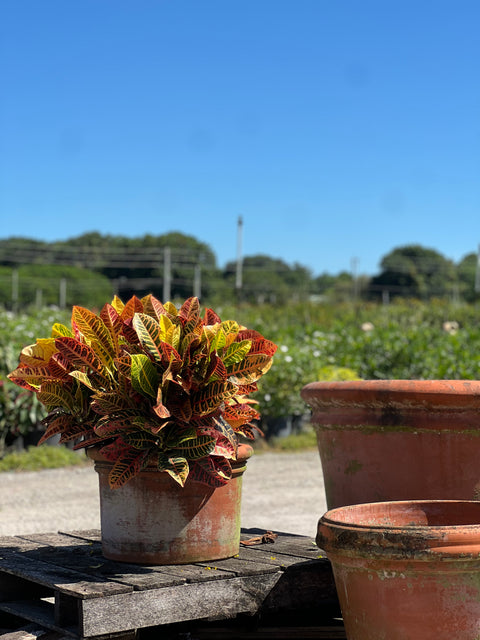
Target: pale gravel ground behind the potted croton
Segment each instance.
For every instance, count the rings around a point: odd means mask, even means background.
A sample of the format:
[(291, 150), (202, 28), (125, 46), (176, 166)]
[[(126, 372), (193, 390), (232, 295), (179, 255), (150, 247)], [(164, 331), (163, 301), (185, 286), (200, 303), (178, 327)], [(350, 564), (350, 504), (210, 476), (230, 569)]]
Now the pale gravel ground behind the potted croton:
[[(315, 537), (326, 511), (316, 451), (261, 453), (243, 479), (242, 526)], [(0, 474), (0, 535), (99, 529), (93, 467)]]

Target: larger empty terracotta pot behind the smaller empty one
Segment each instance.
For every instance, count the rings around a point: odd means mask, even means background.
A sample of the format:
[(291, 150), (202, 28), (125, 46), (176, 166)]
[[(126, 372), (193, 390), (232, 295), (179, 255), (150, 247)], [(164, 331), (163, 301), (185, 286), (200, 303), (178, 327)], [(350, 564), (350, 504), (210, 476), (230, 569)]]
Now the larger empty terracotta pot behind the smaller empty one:
[(313, 382), (302, 397), (313, 410), (328, 508), (479, 496), (480, 382)]

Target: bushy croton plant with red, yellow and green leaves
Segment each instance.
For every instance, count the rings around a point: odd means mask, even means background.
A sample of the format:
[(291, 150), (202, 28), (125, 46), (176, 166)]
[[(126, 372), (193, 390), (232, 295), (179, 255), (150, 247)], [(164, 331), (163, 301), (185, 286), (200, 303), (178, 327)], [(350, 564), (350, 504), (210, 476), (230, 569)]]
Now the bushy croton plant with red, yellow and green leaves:
[(276, 345), (211, 309), (202, 316), (197, 298), (177, 309), (115, 297), (98, 315), (73, 307), (71, 325), (25, 347), (9, 375), (49, 412), (40, 442), (61, 434), (101, 447), (112, 489), (151, 465), (182, 486), (226, 483), (239, 436), (255, 435), (249, 395)]

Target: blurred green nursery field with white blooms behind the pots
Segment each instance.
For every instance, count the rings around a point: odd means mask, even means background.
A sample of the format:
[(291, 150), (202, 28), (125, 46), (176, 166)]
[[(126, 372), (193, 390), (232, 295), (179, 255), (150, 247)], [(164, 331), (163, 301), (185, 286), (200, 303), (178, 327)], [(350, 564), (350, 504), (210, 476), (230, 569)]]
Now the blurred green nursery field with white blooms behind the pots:
[[(278, 418), (301, 418), (304, 384), (325, 379), (480, 378), (480, 308), (434, 300), (377, 304), (296, 304), (215, 307), (278, 345), (274, 364), (256, 399), (262, 428), (271, 435)], [(35, 398), (6, 374), (20, 349), (48, 337), (54, 322), (69, 323), (55, 309), (12, 314), (0, 311), (0, 455), (2, 443), (28, 434), (43, 413)]]

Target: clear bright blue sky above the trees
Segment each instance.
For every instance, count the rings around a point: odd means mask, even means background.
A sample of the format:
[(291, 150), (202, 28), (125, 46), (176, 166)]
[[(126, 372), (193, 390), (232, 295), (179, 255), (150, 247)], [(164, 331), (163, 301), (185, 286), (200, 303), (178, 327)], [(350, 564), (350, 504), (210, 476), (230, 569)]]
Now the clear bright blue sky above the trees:
[(478, 0), (0, 0), (0, 237), (480, 242)]

